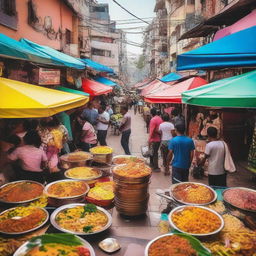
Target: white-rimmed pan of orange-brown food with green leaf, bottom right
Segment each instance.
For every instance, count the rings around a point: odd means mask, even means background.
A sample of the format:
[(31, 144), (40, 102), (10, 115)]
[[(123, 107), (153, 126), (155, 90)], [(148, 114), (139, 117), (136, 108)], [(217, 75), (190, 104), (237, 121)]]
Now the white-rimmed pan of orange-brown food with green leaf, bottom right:
[(165, 234), (151, 240), (145, 248), (145, 256), (210, 256), (199, 240), (187, 234)]

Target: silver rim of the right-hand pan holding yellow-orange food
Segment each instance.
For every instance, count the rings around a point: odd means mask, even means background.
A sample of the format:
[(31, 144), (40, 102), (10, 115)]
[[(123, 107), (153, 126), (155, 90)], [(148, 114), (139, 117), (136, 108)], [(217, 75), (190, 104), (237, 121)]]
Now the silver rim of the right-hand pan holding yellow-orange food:
[[(207, 234), (200, 234), (200, 233), (199, 233), (199, 234), (194, 234), (194, 233), (185, 232), (184, 230), (179, 229), (179, 228), (172, 222), (172, 215), (174, 214), (174, 212), (180, 211), (180, 210), (182, 210), (182, 209), (184, 209), (184, 208), (187, 208), (187, 207), (197, 207), (197, 208), (205, 209), (205, 210), (207, 210), (207, 211), (209, 211), (209, 212), (214, 213), (214, 214), (220, 219), (220, 221), (221, 221), (220, 227), (219, 227), (218, 229), (216, 229), (215, 231), (210, 232), (210, 233), (207, 233)], [(217, 212), (215, 212), (214, 210), (212, 210), (212, 209), (210, 209), (210, 208), (207, 208), (207, 207), (204, 207), (204, 206), (190, 206), (190, 205), (178, 206), (178, 207), (174, 208), (174, 209), (169, 213), (168, 219), (169, 219), (169, 222), (170, 222), (170, 224), (171, 224), (171, 226), (172, 226), (173, 228), (177, 229), (178, 231), (180, 231), (180, 232), (182, 232), (182, 233), (185, 233), (185, 234), (188, 234), (188, 235), (192, 235), (192, 236), (201, 236), (201, 237), (203, 237), (203, 236), (214, 235), (214, 234), (219, 233), (219, 232), (222, 230), (222, 228), (224, 227), (224, 220), (223, 220), (223, 218), (221, 217), (221, 215), (218, 214)]]

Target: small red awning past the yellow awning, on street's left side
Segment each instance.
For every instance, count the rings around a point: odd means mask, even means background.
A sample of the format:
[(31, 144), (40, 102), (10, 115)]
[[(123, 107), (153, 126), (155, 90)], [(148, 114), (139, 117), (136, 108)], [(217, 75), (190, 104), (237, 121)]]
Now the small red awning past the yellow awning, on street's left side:
[(112, 92), (113, 90), (112, 86), (101, 84), (90, 79), (83, 79), (82, 88), (83, 91), (89, 93), (90, 96), (99, 96), (102, 94), (107, 94)]

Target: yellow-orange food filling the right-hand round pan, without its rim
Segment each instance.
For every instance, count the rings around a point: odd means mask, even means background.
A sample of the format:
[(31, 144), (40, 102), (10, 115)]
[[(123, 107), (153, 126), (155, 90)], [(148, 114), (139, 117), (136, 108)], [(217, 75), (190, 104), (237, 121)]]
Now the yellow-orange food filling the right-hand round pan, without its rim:
[(174, 212), (171, 218), (180, 230), (191, 234), (208, 234), (221, 226), (221, 220), (216, 214), (194, 206)]

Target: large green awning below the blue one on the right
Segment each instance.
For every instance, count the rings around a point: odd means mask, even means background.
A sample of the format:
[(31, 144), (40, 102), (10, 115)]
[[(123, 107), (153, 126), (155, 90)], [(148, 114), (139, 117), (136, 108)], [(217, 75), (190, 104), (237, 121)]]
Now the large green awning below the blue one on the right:
[(256, 108), (256, 71), (186, 91), (182, 93), (182, 102), (208, 107)]

